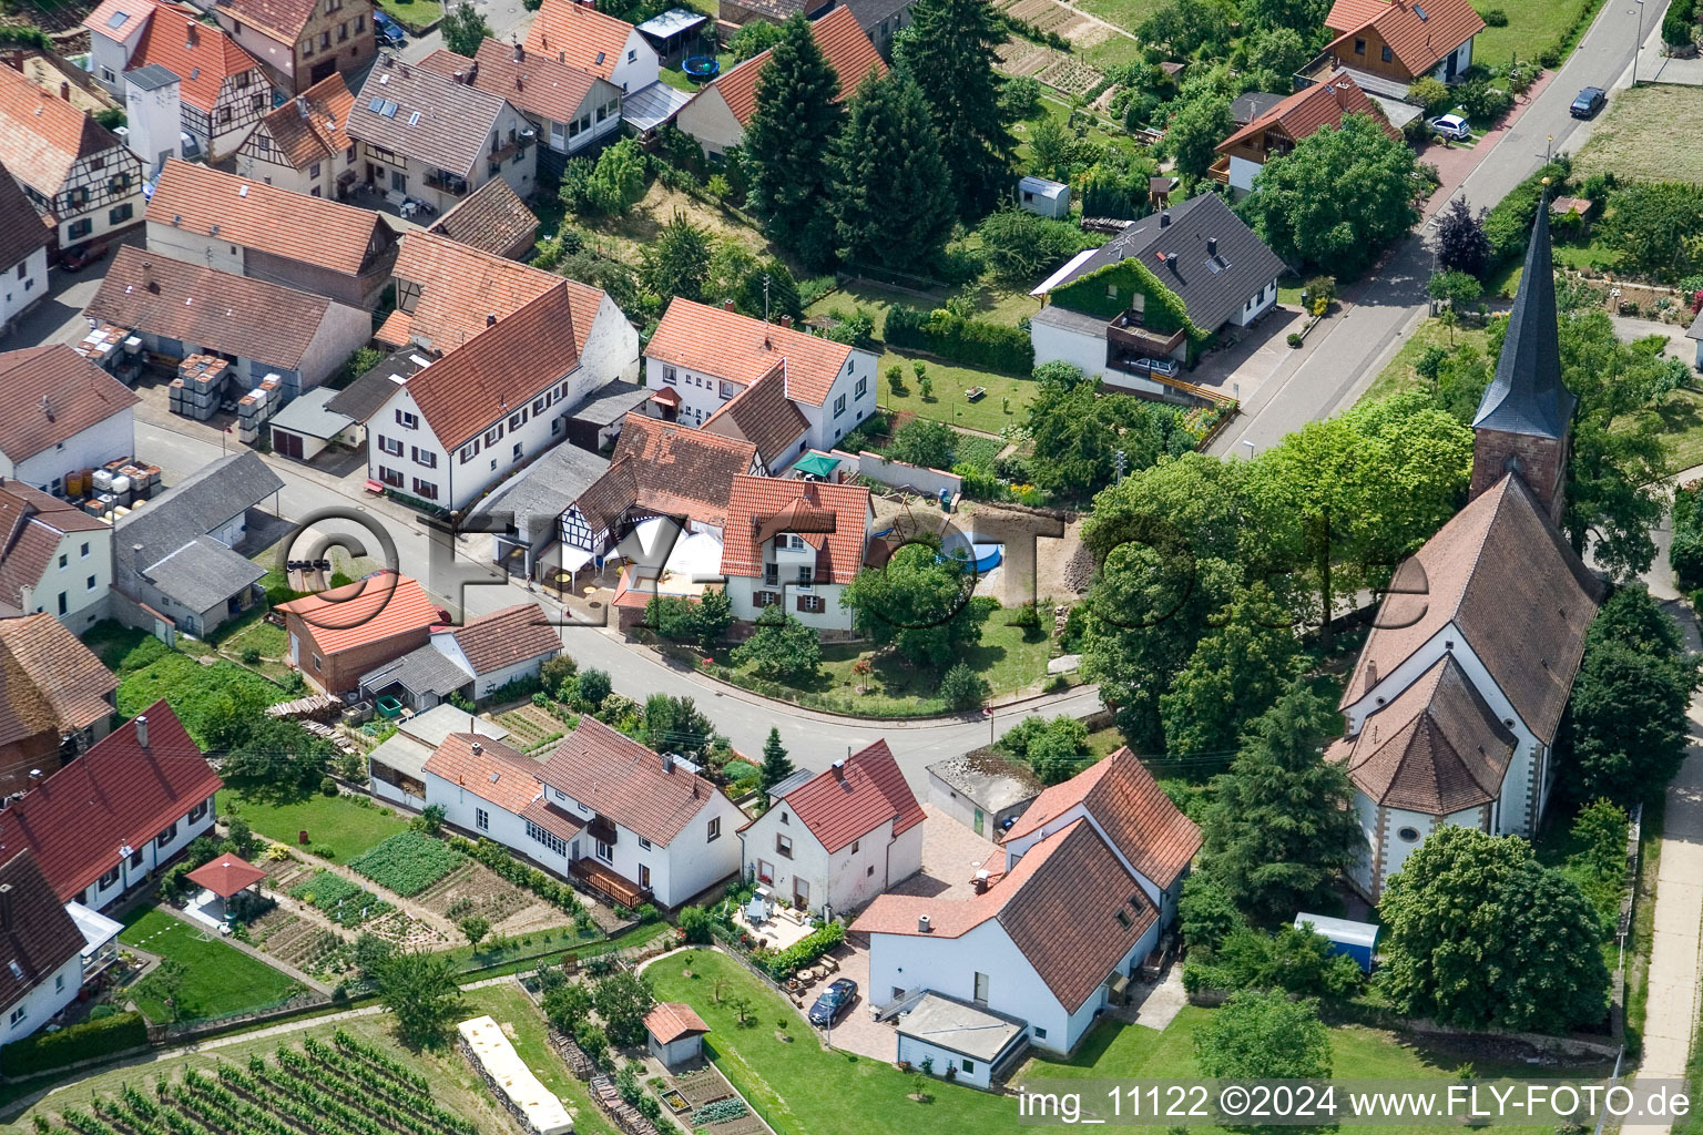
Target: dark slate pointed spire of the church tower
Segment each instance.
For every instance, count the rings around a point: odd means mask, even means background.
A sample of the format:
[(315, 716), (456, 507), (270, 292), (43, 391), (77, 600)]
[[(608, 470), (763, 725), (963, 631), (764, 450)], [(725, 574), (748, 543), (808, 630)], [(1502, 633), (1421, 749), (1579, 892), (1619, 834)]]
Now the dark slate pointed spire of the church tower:
[(1473, 429), (1531, 437), (1565, 437), (1574, 395), (1562, 385), (1562, 344), (1555, 322), (1555, 264), (1550, 259), (1550, 209), (1538, 208), (1526, 248), (1526, 271), (1502, 339), (1495, 378), (1485, 388)]

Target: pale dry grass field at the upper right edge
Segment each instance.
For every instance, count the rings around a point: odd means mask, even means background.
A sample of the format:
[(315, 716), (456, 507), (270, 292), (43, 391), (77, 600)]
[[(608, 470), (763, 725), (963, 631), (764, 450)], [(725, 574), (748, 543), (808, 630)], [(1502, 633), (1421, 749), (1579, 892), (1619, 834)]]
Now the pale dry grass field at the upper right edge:
[[(1495, 31), (1495, 29), (1492, 29)], [(1703, 87), (1637, 87), (1609, 95), (1574, 177), (1703, 182)]]

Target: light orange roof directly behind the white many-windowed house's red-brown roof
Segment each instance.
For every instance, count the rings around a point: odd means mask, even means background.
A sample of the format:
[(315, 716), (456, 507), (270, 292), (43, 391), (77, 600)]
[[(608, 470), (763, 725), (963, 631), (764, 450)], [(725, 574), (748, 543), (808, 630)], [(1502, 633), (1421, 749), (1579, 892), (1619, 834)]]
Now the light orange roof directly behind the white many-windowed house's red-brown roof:
[(598, 306), (603, 303), (599, 288), (540, 272), (526, 264), (504, 260), (426, 231), (402, 238), (395, 276), (421, 286), (407, 334), (444, 354), (484, 334), (485, 317), (496, 315), (501, 323), (552, 288), (564, 284), (574, 317), (574, 345), (584, 351)]

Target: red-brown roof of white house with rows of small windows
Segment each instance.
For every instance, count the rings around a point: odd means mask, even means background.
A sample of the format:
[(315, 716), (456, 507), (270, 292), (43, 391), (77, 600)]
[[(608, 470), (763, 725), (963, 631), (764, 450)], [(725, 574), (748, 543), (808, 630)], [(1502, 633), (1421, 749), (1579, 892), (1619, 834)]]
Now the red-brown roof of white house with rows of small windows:
[(409, 395), (444, 449), (453, 453), (579, 366), (574, 301), (567, 282), (557, 282), (409, 379)]

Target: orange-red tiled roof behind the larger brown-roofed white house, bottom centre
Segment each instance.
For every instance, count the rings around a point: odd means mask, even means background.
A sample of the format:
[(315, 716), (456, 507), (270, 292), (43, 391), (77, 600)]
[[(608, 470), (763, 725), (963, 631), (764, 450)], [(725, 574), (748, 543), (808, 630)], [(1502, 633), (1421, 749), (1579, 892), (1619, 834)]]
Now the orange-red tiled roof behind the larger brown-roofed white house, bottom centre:
[(1112, 846), (1158, 887), (1177, 881), (1201, 849), (1201, 829), (1172, 803), (1127, 745), (1035, 796), (1003, 842), (1041, 830), (1078, 803)]

